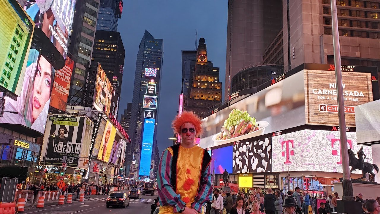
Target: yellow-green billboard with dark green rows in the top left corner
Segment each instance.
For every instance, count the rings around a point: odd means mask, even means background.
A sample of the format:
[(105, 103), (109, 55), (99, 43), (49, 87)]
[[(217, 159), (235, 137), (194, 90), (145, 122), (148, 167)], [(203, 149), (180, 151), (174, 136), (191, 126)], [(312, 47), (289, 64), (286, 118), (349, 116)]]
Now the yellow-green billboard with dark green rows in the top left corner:
[(1, 1), (0, 8), (0, 88), (20, 96), (35, 24), (17, 1)]

